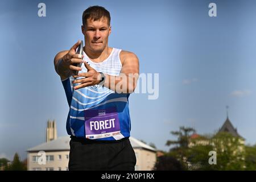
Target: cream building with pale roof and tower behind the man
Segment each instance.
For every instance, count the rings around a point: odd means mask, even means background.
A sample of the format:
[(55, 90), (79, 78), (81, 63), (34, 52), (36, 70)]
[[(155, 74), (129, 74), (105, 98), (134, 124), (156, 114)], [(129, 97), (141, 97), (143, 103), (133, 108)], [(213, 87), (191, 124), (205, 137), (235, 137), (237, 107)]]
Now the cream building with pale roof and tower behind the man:
[[(55, 121), (47, 122), (46, 142), (27, 150), (28, 171), (65, 171), (68, 170), (70, 137), (56, 134)], [(147, 144), (130, 137), (137, 163), (135, 170), (152, 170), (156, 162), (156, 150)]]

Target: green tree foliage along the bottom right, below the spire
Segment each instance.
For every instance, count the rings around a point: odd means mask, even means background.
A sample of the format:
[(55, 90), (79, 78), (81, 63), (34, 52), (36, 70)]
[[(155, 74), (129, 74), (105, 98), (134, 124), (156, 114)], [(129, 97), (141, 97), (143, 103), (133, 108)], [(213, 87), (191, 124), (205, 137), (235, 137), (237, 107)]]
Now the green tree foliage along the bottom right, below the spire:
[[(245, 146), (239, 137), (221, 132), (215, 135), (191, 139), (192, 128), (180, 127), (172, 131), (177, 140), (168, 140), (175, 145), (167, 155), (177, 159), (188, 170), (256, 170), (256, 146)], [(210, 151), (216, 152), (217, 164), (209, 164)]]

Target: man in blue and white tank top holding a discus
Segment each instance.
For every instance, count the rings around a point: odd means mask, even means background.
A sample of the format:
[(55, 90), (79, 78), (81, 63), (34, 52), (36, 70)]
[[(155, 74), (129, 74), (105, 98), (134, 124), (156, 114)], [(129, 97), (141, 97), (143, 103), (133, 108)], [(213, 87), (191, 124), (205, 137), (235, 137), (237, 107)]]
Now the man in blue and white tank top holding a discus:
[(81, 29), (83, 55), (76, 54), (79, 41), (54, 59), (70, 107), (69, 170), (134, 170), (128, 98), (136, 87), (139, 60), (108, 46), (110, 14), (104, 7), (86, 9)]

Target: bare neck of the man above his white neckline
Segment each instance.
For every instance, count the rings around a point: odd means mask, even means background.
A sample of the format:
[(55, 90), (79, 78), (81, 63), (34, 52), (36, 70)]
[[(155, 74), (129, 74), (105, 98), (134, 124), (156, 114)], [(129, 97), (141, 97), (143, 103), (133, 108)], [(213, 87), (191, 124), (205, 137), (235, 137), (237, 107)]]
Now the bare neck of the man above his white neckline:
[(108, 46), (106, 46), (102, 52), (92, 52), (90, 51), (90, 49), (86, 49), (86, 47), (84, 47), (84, 52), (86, 53), (86, 55), (89, 57), (90, 60), (96, 63), (100, 63), (107, 59), (111, 51), (112, 48)]

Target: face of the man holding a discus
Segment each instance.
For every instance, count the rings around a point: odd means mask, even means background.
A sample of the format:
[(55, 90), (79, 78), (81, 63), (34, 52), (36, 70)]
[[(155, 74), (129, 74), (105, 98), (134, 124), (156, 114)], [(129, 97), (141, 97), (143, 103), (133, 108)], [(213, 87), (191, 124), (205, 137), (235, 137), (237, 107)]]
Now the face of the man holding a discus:
[(87, 19), (86, 27), (82, 26), (82, 34), (85, 38), (85, 47), (94, 53), (100, 53), (108, 45), (111, 27), (108, 25), (108, 19), (102, 17), (93, 21)]

